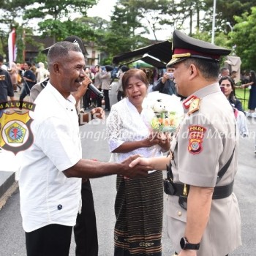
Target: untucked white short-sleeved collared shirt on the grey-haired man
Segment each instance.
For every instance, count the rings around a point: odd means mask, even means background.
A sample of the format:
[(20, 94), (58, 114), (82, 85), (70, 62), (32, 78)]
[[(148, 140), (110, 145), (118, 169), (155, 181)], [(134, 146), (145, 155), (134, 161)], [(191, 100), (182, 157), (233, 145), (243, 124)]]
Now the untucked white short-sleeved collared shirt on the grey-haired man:
[(48, 83), (34, 103), (34, 143), (20, 154), (20, 211), (26, 232), (50, 224), (75, 225), (80, 202), (80, 178), (62, 173), (82, 158), (75, 98), (65, 99)]

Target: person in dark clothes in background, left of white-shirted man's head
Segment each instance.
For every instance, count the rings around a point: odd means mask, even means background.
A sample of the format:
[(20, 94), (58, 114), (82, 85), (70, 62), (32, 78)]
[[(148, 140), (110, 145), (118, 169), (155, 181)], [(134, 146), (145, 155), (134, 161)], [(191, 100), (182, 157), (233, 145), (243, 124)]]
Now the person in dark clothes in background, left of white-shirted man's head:
[(23, 65), (25, 72), (23, 75), (23, 89), (20, 94), (20, 102), (23, 102), (23, 99), (30, 94), (31, 88), (36, 84), (37, 78), (34, 75), (34, 72), (31, 71), (31, 63), (26, 61)]

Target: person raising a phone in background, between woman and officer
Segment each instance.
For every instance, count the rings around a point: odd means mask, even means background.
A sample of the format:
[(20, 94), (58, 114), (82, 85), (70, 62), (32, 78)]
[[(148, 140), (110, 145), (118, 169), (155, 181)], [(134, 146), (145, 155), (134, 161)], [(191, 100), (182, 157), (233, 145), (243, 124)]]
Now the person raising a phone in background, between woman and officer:
[(176, 94), (175, 83), (173, 82), (173, 72), (173, 67), (167, 67), (162, 78), (159, 78), (156, 85), (153, 86), (153, 91), (159, 91), (169, 95)]

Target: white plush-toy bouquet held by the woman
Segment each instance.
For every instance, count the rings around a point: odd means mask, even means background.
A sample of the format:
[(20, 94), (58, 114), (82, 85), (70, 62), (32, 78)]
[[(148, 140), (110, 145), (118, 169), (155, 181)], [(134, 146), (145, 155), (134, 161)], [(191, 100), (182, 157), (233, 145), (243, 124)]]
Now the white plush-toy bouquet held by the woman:
[(154, 111), (154, 115), (149, 119), (152, 132), (176, 132), (184, 116), (179, 97), (158, 91), (151, 92), (148, 94), (148, 105)]

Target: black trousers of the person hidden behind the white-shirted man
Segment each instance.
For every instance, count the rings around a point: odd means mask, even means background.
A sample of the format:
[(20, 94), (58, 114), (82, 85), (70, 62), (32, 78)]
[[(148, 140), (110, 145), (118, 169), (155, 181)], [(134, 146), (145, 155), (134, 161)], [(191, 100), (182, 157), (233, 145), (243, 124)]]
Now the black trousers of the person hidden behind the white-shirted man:
[(82, 189), (82, 212), (78, 214), (74, 227), (75, 255), (97, 256), (98, 236), (94, 211), (94, 198), (91, 191), (90, 181), (83, 182)]

